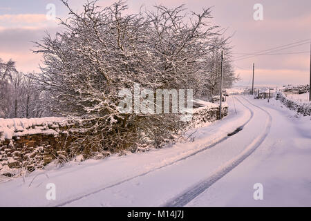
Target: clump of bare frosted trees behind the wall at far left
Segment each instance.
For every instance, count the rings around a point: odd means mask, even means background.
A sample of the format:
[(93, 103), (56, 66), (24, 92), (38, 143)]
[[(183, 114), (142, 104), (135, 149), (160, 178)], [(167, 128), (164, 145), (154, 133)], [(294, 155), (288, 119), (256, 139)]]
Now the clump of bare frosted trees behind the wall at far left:
[(41, 90), (33, 77), (35, 73), (23, 74), (15, 68), (15, 61), (0, 59), (0, 117), (44, 117), (50, 111), (50, 97)]

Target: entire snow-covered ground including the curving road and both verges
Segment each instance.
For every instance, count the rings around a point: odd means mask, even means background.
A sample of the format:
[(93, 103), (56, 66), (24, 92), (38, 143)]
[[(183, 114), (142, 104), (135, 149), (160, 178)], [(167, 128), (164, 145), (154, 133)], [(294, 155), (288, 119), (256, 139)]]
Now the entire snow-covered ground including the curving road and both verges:
[[(229, 115), (197, 128), (194, 142), (51, 165), (0, 184), (0, 206), (311, 206), (310, 116), (295, 117), (274, 100), (227, 103)], [(264, 200), (253, 198), (258, 182)], [(46, 199), (48, 183), (56, 200)]]

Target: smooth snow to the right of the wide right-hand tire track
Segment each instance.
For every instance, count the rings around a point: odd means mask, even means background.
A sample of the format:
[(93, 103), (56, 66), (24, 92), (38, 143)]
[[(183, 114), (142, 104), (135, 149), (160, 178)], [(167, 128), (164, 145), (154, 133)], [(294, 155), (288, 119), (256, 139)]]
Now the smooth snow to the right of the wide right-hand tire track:
[[(267, 138), (252, 155), (187, 206), (311, 206), (311, 121), (279, 101), (252, 101), (272, 115)], [(253, 185), (263, 184), (263, 200)]]

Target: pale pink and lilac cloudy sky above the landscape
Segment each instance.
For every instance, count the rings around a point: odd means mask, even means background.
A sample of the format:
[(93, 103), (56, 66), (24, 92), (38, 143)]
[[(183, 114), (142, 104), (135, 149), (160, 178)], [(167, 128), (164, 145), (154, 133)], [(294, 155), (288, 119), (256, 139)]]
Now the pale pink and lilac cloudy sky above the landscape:
[[(82, 0), (69, 0), (79, 10)], [(101, 6), (109, 6), (113, 1), (99, 1)], [(66, 8), (58, 0), (29, 0), (0, 2), (0, 58), (17, 61), (17, 68), (23, 72), (38, 71), (41, 55), (30, 51), (34, 44), (44, 37), (44, 32), (59, 30), (55, 21), (46, 20), (46, 5), (55, 3), (57, 17), (66, 17)], [(263, 21), (253, 19), (255, 3), (263, 5)], [(229, 1), (229, 0), (191, 0), (191, 1), (143, 1), (129, 0), (131, 12), (139, 10), (144, 4), (152, 8), (155, 4), (179, 6), (185, 4), (189, 10), (200, 12), (201, 8), (214, 6), (213, 24), (227, 28), (225, 35), (232, 35), (234, 56), (238, 53), (254, 53), (296, 41), (311, 39), (311, 1)], [(308, 43), (308, 42), (307, 42)], [(276, 53), (304, 52), (291, 55), (262, 55), (251, 59), (234, 61), (236, 73), (242, 80), (240, 85), (249, 85), (252, 77), (252, 63), (256, 64), (255, 84), (282, 85), (308, 84), (310, 68), (310, 44), (281, 50)]]

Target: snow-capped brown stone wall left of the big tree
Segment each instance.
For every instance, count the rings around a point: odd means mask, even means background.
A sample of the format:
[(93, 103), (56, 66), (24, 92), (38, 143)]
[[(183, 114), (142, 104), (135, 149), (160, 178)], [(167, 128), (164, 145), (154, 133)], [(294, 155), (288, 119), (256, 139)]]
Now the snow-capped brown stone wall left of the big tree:
[(70, 126), (62, 117), (0, 119), (0, 175), (10, 175), (10, 169), (32, 171), (51, 162), (64, 151)]

